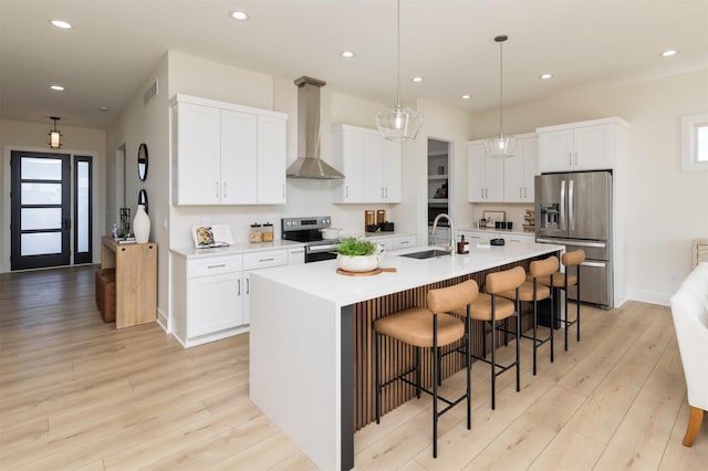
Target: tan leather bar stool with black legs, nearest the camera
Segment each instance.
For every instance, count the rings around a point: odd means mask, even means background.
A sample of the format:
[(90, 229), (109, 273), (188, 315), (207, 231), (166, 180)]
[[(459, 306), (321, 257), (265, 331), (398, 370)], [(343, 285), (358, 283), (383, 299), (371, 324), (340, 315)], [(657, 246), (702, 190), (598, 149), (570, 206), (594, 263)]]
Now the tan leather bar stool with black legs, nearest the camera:
[[(381, 391), (396, 380), (402, 380), (416, 388), (416, 397), (420, 397), (420, 391), (433, 396), (433, 458), (438, 456), (438, 418), (450, 410), (457, 404), (467, 399), (467, 428), (471, 428), (471, 401), (470, 401), (470, 360), (466, 355), (467, 368), (467, 390), (459, 398), (449, 400), (438, 395), (438, 362), (440, 358), (439, 348), (450, 345), (465, 337), (465, 352), (470, 348), (470, 308), (469, 304), (477, 299), (479, 287), (475, 280), (456, 284), (454, 286), (430, 290), (427, 294), (427, 307), (412, 307), (392, 315), (381, 317), (374, 322), (375, 348), (374, 362), (376, 365), (376, 423), (381, 419)], [(465, 322), (446, 314), (447, 312), (465, 310)], [(395, 338), (398, 342), (415, 347), (415, 365), (407, 371), (382, 384), (381, 379), (381, 344), (382, 335)], [(433, 390), (420, 385), (420, 349), (433, 349), (433, 377), (430, 384)], [(415, 380), (407, 378), (409, 374), (415, 374)], [(447, 406), (438, 411), (438, 399)]]

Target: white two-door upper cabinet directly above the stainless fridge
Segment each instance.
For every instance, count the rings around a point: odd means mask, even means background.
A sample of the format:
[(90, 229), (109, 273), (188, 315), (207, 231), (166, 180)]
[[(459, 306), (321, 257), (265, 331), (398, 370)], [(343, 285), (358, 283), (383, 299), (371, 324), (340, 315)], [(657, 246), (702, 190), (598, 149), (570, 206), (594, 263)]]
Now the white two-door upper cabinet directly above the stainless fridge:
[(621, 118), (540, 127), (539, 170), (603, 170), (615, 167), (617, 142), (628, 127)]

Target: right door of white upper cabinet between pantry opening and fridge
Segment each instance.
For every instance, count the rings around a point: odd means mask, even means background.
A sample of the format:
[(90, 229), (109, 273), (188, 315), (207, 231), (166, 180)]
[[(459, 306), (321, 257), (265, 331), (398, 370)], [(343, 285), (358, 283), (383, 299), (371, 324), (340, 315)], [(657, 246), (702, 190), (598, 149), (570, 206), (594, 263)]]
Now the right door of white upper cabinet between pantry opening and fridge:
[(535, 134), (517, 136), (514, 155), (504, 159), (504, 202), (533, 202), (533, 177), (539, 174)]

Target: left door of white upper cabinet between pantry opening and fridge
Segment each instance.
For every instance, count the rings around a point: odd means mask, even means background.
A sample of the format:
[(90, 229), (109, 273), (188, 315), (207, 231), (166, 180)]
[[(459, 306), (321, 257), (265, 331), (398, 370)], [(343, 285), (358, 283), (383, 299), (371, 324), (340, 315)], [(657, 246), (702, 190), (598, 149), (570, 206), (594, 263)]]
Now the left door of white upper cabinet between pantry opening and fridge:
[(485, 143), (467, 143), (467, 200), (503, 201), (503, 159), (487, 156)]

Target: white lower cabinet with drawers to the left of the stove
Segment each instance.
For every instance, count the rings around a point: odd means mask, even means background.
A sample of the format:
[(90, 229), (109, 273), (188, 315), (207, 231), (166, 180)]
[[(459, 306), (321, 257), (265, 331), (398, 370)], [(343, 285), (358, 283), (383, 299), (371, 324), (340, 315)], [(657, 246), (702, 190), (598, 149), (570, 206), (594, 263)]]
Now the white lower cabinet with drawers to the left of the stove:
[[(299, 253), (298, 251), (302, 252)], [(304, 248), (215, 257), (174, 257), (171, 331), (184, 347), (248, 332), (250, 278), (270, 266), (304, 263)]]

